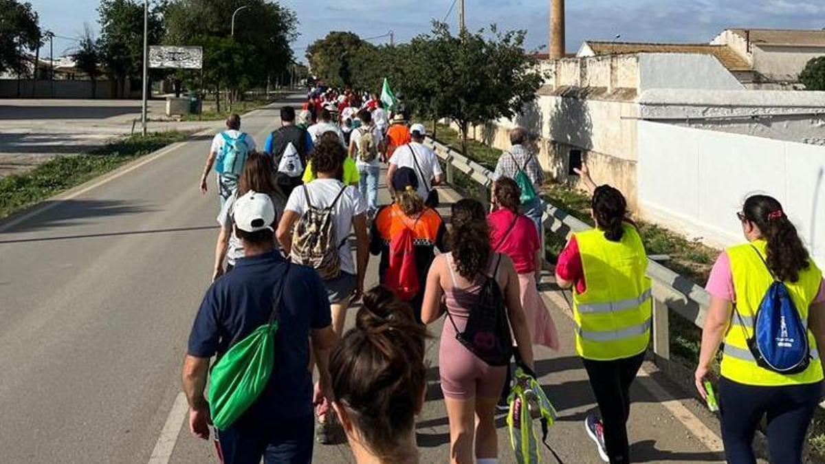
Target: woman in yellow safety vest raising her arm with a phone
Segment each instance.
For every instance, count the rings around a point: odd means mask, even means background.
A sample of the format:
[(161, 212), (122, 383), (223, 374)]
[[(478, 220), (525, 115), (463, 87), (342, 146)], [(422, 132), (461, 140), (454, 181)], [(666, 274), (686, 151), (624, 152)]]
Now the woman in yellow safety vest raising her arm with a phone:
[(596, 228), (573, 234), (559, 255), (556, 281), (573, 288), (576, 349), (601, 413), (601, 419), (587, 416), (587, 434), (603, 461), (629, 462), (629, 390), (648, 348), (653, 313), (648, 258), (627, 219), (625, 196), (596, 187), (586, 166), (577, 173), (592, 193)]

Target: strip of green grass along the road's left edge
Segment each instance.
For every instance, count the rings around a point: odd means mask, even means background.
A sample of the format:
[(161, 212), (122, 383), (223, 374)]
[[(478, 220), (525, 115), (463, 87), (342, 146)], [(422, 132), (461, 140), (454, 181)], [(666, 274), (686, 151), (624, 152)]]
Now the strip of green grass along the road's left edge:
[(176, 130), (156, 132), (145, 138), (130, 135), (87, 154), (59, 156), (27, 173), (0, 178), (0, 218), (108, 173), (144, 154), (186, 140), (189, 135)]

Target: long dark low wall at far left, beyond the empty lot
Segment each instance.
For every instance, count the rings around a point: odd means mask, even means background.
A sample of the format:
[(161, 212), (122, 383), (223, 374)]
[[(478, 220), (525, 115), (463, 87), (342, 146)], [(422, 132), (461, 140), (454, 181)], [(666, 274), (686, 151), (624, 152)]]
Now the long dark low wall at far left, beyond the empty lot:
[(92, 96), (92, 81), (46, 81), (31, 79), (0, 79), (0, 98), (112, 98), (111, 81), (97, 81)]

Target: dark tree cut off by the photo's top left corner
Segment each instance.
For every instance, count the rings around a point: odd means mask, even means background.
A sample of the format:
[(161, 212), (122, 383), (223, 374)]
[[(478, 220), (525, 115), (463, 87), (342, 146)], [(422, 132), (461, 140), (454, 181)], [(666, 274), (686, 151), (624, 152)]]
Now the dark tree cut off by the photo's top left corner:
[[(29, 73), (24, 50), (40, 49), (40, 26), (31, 3), (0, 0), (0, 72)], [(34, 66), (35, 72), (37, 64)]]

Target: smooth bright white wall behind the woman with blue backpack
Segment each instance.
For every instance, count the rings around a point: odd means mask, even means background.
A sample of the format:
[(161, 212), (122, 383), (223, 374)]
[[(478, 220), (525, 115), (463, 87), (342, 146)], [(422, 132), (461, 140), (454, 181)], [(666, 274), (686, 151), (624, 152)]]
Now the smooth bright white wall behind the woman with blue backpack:
[(736, 211), (775, 196), (825, 268), (825, 147), (639, 121), (644, 219), (714, 246), (742, 241)]

